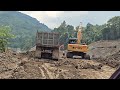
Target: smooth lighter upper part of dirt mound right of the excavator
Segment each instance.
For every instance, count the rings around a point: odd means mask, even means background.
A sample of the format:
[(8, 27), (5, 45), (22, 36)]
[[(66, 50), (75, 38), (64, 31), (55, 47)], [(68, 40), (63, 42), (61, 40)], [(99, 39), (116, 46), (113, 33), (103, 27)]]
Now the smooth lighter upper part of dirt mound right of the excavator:
[(89, 45), (91, 58), (106, 58), (120, 50), (120, 40), (103, 40)]

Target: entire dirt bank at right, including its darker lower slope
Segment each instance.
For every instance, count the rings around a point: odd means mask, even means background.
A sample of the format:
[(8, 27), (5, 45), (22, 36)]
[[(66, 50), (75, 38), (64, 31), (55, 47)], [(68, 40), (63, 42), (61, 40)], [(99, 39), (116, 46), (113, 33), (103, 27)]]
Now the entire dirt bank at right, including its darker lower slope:
[(94, 42), (89, 48), (88, 54), (93, 60), (113, 68), (120, 67), (120, 40)]

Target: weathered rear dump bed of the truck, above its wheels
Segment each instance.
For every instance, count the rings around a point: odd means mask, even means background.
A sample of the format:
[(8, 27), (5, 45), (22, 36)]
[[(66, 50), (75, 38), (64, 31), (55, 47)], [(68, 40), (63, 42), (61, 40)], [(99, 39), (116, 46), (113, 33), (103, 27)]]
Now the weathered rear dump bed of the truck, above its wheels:
[(36, 46), (58, 47), (59, 36), (59, 33), (37, 32)]

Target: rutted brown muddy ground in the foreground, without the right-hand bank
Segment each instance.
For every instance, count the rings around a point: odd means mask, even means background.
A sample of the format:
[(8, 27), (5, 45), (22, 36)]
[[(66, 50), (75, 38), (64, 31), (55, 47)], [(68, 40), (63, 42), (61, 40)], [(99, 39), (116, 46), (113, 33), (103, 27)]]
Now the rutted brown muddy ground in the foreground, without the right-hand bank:
[(0, 79), (109, 79), (115, 70), (96, 60), (53, 61), (28, 54), (0, 53)]

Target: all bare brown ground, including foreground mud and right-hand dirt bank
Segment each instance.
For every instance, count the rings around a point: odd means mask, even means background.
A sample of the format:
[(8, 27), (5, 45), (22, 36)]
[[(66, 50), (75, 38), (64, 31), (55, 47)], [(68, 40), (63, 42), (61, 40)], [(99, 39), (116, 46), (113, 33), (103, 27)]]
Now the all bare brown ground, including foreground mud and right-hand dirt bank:
[(109, 79), (120, 65), (120, 40), (89, 45), (91, 60), (34, 58), (32, 51), (0, 53), (0, 79)]

